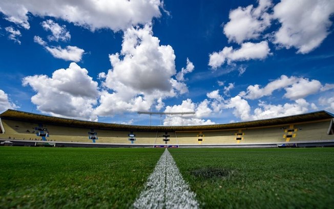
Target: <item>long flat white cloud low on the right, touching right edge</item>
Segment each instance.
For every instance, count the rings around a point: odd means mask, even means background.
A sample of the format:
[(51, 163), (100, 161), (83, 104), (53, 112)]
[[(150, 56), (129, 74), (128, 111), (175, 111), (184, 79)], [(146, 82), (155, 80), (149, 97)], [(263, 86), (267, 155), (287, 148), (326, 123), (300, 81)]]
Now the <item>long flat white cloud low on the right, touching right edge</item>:
[(282, 75), (280, 78), (269, 82), (263, 88), (260, 85), (248, 86), (247, 91), (242, 91), (239, 95), (246, 99), (258, 99), (263, 96), (270, 96), (276, 90), (284, 89), (286, 91), (284, 94), (285, 98), (297, 100), (319, 91), (330, 90), (331, 88), (333, 88), (332, 84), (326, 83), (325, 86), (322, 86), (319, 80)]

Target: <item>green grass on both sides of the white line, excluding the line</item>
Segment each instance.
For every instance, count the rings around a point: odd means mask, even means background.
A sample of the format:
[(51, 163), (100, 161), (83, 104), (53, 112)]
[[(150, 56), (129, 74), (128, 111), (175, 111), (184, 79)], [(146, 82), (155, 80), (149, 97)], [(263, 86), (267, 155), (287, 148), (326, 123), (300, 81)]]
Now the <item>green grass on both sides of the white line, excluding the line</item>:
[[(334, 208), (334, 149), (169, 149), (202, 208)], [(164, 149), (0, 147), (0, 208), (129, 208)]]

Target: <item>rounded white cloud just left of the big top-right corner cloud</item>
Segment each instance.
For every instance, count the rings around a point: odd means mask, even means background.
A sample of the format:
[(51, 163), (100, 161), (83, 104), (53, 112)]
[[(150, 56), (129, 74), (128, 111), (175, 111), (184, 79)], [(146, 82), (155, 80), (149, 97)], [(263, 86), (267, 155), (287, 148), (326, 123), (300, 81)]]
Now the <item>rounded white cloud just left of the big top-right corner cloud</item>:
[(259, 6), (238, 7), (229, 12), (229, 22), (224, 25), (228, 41), (241, 44), (244, 40), (258, 38), (270, 26), (270, 15), (266, 13), (272, 5), (270, 0), (260, 0)]

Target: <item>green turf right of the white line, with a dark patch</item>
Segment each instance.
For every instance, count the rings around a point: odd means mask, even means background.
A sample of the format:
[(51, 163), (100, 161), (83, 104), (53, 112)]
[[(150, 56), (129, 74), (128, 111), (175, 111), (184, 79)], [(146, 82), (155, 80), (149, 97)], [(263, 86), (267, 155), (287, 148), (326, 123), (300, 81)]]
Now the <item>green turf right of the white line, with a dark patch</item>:
[(170, 149), (202, 208), (334, 208), (334, 149)]

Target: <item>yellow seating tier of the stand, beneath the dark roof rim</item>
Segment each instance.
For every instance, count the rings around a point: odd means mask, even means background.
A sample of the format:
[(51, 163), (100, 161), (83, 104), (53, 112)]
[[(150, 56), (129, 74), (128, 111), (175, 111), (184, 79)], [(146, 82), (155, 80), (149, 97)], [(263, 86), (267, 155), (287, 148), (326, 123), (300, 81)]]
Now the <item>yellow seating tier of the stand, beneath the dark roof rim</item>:
[[(4, 133), (0, 138), (41, 140), (36, 136), (37, 123), (27, 121), (2, 119)], [(121, 143), (121, 144), (253, 144), (253, 143), (284, 143), (300, 141), (330, 140), (328, 135), (330, 120), (319, 120), (305, 123), (284, 124), (272, 127), (257, 127), (249, 129), (231, 130), (198, 130), (198, 131), (115, 131), (107, 129), (93, 129), (96, 132), (95, 143)], [(55, 126), (43, 124), (47, 129), (48, 141), (65, 142), (93, 142), (90, 139), (90, 128)], [(129, 134), (134, 134), (131, 141)], [(168, 136), (165, 136), (168, 135)], [(165, 140), (168, 139), (168, 140)]]

